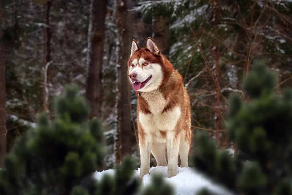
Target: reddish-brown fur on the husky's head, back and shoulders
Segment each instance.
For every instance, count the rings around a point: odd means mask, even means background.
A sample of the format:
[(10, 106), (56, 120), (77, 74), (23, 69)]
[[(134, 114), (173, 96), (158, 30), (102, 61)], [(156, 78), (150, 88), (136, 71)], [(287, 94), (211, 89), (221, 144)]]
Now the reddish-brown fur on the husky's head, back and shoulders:
[[(134, 40), (135, 41), (135, 40)], [(190, 121), (190, 99), (187, 95), (186, 89), (183, 86), (183, 78), (176, 70), (174, 70), (172, 63), (162, 54), (155, 55), (147, 48), (139, 48), (128, 60), (128, 67), (132, 64), (133, 59), (144, 58), (150, 63), (158, 63), (162, 67), (163, 80), (159, 86), (160, 92), (162, 92), (165, 99), (170, 99), (168, 105), (162, 112), (171, 110), (174, 106), (180, 106), (182, 117), (185, 120)], [(129, 75), (129, 70), (128, 70)], [(141, 92), (144, 93), (144, 92)], [(136, 91), (138, 96), (139, 92)], [(139, 118), (139, 112), (150, 114), (149, 105), (145, 99), (138, 96), (137, 114)], [(138, 121), (139, 136), (144, 137), (143, 129)], [(177, 124), (177, 133), (181, 130), (186, 130), (185, 139), (191, 144), (191, 130), (187, 127), (187, 124), (183, 120), (179, 120)], [(165, 134), (165, 133), (164, 133)], [(161, 134), (162, 135), (162, 134)], [(143, 140), (143, 139), (142, 139)]]

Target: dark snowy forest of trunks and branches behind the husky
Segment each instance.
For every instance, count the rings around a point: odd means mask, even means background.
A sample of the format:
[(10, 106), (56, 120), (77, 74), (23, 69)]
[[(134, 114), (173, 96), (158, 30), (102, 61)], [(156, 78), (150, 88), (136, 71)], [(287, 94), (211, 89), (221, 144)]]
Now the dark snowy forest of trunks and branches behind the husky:
[[(0, 0), (0, 160), (36, 114), (55, 118), (54, 97), (80, 87), (103, 121), (104, 168), (126, 155), (139, 162), (137, 98), (128, 84), (132, 39), (152, 37), (183, 76), (192, 130), (207, 131), (218, 148), (228, 140), (231, 94), (253, 60), (277, 73), (277, 93), (292, 86), (292, 1), (248, 0)], [(152, 165), (155, 161), (152, 159)]]

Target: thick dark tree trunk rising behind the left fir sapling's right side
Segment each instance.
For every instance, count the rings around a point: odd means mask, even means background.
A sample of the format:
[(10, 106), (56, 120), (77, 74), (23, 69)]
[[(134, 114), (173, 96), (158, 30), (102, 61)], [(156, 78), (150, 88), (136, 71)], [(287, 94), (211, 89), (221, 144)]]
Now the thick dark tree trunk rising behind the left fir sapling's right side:
[(91, 43), (88, 44), (90, 52), (88, 58), (88, 78), (86, 84), (86, 98), (91, 106), (89, 118), (101, 118), (102, 106), (102, 59), (105, 41), (105, 16), (107, 0), (91, 0), (90, 22), (88, 36)]

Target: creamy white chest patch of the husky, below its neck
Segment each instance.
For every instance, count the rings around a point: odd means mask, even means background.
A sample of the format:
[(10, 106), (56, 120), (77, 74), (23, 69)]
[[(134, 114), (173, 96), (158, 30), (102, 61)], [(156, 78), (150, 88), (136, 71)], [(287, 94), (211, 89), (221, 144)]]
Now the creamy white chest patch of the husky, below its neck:
[(160, 92), (147, 93), (142, 96), (148, 103), (151, 114), (139, 112), (139, 122), (145, 133), (152, 133), (155, 137), (161, 137), (161, 132), (174, 130), (180, 115), (179, 106), (164, 111), (169, 101)]

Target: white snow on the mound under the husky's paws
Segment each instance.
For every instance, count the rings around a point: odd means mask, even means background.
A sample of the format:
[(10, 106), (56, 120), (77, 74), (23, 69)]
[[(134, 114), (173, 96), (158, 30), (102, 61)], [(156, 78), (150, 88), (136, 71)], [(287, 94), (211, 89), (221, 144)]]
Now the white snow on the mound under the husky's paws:
[[(137, 177), (140, 173), (140, 169), (136, 170), (135, 173)], [(229, 191), (226, 189), (214, 184), (210, 180), (206, 179), (200, 173), (194, 171), (192, 168), (178, 168), (178, 175), (167, 178), (167, 167), (152, 167), (150, 168), (150, 175), (147, 174), (143, 177), (142, 186), (147, 186), (151, 183), (151, 175), (160, 173), (164, 175), (166, 182), (170, 183), (175, 188), (176, 195), (194, 195), (198, 192), (202, 187), (208, 188), (210, 191), (215, 192), (217, 194), (231, 195)], [(100, 180), (102, 175), (104, 174), (114, 174), (114, 170), (105, 170), (102, 172), (95, 172), (95, 178)]]

